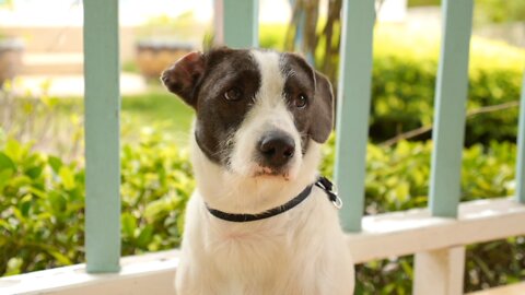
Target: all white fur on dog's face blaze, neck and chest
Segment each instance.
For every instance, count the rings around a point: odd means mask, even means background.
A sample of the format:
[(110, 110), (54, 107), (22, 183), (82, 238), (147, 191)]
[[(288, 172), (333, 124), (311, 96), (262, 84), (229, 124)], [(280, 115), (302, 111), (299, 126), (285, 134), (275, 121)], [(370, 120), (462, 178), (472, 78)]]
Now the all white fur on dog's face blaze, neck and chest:
[[(232, 139), (231, 169), (210, 162), (191, 142), (198, 188), (186, 210), (177, 294), (352, 294), (353, 264), (338, 212), (317, 187), (294, 209), (256, 222), (222, 221), (206, 209), (208, 203), (230, 213), (260, 213), (285, 203), (316, 177), (320, 145), (311, 141), (301, 154), (300, 134), (281, 97), (284, 79), (277, 54), (255, 51), (254, 57), (261, 90)], [(288, 178), (254, 177), (259, 169), (252, 160), (255, 143), (271, 128), (296, 143)]]

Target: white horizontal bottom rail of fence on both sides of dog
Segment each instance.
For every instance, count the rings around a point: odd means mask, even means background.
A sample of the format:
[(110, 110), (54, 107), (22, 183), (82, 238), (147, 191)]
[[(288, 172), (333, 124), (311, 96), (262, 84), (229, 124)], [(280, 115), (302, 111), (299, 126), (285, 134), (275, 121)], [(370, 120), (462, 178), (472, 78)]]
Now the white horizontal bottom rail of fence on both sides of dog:
[[(502, 198), (462, 203), (457, 219), (432, 216), (429, 209), (365, 216), (362, 232), (349, 233), (347, 240), (355, 263), (363, 263), (523, 235), (525, 228), (520, 224), (525, 224), (525, 205)], [(90, 274), (85, 264), (77, 264), (8, 276), (0, 279), (0, 294), (173, 294), (178, 256), (172, 250), (125, 257), (118, 274)], [(455, 274), (463, 280), (460, 273)]]

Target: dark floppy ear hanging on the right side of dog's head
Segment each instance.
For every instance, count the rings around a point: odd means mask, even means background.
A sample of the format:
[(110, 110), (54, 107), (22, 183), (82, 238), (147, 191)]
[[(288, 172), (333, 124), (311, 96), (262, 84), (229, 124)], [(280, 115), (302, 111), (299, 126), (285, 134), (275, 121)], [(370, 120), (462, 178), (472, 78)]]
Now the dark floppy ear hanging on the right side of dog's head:
[(316, 142), (324, 143), (328, 140), (334, 128), (334, 92), (328, 79), (314, 70), (315, 73), (315, 97), (313, 109), (315, 121), (310, 127), (310, 135)]

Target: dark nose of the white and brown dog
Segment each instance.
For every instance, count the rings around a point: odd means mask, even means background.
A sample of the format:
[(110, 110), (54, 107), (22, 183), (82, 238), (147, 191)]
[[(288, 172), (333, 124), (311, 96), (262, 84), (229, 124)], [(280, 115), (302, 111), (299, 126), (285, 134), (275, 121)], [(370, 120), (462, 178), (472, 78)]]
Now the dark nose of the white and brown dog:
[(259, 152), (270, 167), (280, 167), (293, 157), (295, 142), (284, 132), (271, 132), (259, 141)]

